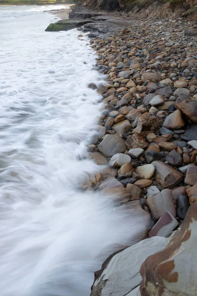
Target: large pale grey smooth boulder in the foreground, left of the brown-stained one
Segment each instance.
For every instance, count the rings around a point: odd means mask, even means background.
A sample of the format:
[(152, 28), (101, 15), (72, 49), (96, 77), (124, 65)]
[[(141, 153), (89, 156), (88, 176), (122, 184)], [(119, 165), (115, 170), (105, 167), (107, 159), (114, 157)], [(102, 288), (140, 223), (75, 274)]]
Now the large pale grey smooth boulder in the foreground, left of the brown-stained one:
[(152, 237), (112, 254), (95, 272), (91, 296), (125, 296), (131, 291), (135, 296), (135, 287), (142, 280), (139, 274), (142, 262), (164, 250), (167, 243), (168, 239), (164, 237)]

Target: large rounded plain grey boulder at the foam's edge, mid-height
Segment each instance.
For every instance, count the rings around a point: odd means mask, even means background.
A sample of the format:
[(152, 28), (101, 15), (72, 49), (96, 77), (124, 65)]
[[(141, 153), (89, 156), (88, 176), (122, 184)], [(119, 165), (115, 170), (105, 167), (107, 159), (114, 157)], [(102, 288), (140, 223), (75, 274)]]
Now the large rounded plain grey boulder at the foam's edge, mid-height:
[(99, 151), (106, 157), (126, 151), (125, 141), (118, 135), (106, 135), (98, 146)]

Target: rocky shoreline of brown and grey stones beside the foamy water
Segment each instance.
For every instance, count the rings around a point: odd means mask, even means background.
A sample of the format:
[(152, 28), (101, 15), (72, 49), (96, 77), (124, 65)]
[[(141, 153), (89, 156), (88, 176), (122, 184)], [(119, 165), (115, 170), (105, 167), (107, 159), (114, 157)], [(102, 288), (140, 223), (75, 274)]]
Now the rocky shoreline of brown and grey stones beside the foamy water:
[(111, 195), (141, 230), (95, 273), (91, 295), (195, 296), (197, 23), (127, 19), (125, 27), (110, 18), (107, 33), (109, 17), (82, 18), (84, 32), (94, 23), (96, 69), (108, 77), (97, 89), (103, 108), (89, 146), (100, 171), (82, 188)]

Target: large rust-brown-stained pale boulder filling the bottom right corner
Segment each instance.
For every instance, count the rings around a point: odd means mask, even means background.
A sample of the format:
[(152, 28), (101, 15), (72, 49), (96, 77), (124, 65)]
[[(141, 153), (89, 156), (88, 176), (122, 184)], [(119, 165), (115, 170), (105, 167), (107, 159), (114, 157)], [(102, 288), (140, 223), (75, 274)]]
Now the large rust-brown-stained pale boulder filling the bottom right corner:
[(165, 249), (141, 265), (141, 296), (197, 295), (197, 203)]

